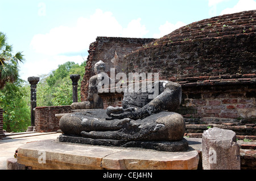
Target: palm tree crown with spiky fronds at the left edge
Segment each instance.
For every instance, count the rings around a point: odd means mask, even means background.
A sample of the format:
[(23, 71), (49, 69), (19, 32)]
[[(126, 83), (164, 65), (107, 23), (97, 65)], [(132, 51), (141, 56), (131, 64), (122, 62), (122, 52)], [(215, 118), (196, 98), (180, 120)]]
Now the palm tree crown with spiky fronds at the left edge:
[(7, 82), (15, 82), (18, 77), (18, 64), (23, 62), (22, 52), (17, 52), (14, 56), (12, 54), (13, 46), (7, 43), (7, 37), (0, 32), (0, 89), (6, 85)]

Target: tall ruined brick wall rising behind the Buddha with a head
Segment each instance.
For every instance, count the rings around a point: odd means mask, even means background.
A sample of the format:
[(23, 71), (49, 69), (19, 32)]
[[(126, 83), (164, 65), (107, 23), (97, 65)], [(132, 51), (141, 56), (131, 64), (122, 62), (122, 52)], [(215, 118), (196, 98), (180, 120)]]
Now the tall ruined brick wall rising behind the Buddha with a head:
[[(126, 54), (141, 48), (144, 44), (155, 39), (139, 39), (126, 37), (97, 37), (90, 44), (84, 79), (81, 82), (81, 101), (85, 101), (88, 95), (88, 83), (90, 77), (95, 75), (94, 65), (99, 60), (106, 64), (106, 73), (110, 76), (110, 68), (115, 68), (115, 74), (123, 72), (123, 57)], [(115, 99), (115, 98), (114, 98)], [(119, 100), (118, 98), (116, 99)]]

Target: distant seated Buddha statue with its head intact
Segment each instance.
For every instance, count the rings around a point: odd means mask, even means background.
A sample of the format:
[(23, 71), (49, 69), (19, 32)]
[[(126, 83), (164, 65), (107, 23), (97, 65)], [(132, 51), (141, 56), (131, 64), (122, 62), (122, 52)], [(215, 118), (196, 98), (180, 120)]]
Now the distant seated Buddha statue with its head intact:
[[(110, 82), (110, 78), (107, 73), (105, 73), (106, 64), (100, 60), (94, 66), (94, 72), (96, 75), (89, 79), (89, 86), (88, 86), (88, 96), (87, 100), (84, 102), (76, 102), (71, 104), (71, 108), (73, 110), (87, 110), (87, 109), (96, 109), (96, 108), (103, 108), (103, 101), (101, 97), (98, 95), (98, 84), (104, 78), (108, 78)], [(102, 81), (104, 82), (104, 81)]]

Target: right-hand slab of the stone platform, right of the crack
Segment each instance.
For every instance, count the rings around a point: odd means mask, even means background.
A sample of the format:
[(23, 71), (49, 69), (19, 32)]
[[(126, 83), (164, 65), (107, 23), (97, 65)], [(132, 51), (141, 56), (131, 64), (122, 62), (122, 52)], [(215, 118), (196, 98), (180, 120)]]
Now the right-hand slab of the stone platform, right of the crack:
[(130, 148), (102, 159), (102, 167), (116, 170), (195, 170), (198, 163), (196, 150), (165, 152)]

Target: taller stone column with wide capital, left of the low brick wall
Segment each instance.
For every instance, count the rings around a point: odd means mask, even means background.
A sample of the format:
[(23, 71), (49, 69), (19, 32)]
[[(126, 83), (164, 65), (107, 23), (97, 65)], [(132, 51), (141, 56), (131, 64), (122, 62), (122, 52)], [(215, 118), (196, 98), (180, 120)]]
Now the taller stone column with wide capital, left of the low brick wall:
[(30, 114), (31, 114), (31, 127), (35, 127), (35, 112), (36, 107), (36, 84), (39, 82), (39, 77), (28, 77), (28, 82), (30, 82)]

